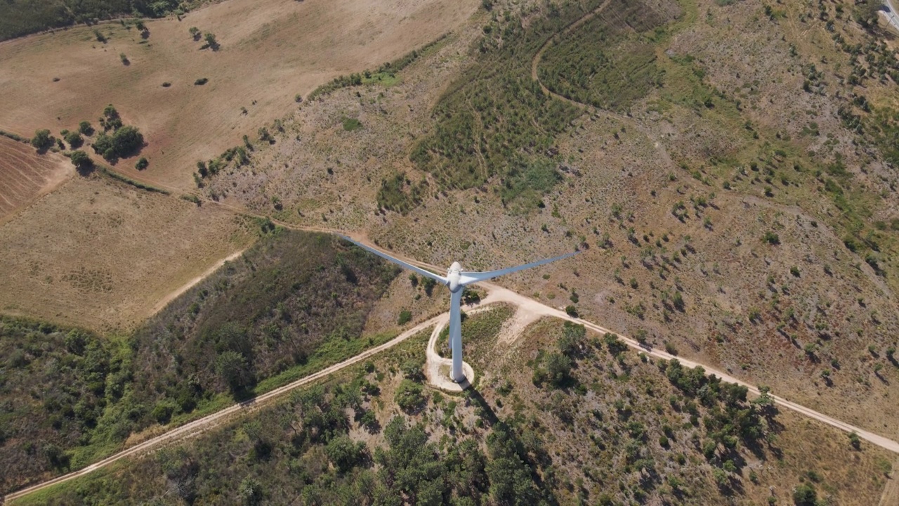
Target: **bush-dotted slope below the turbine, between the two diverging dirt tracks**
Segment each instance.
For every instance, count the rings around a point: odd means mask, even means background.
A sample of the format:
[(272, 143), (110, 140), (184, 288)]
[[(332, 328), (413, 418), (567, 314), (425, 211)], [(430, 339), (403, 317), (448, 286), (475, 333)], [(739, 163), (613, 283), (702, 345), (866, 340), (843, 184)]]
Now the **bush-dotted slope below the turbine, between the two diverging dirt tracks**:
[[(803, 483), (840, 504), (877, 501), (883, 452), (852, 449), (845, 435), (789, 413), (683, 390), (665, 364), (612, 352), (599, 336), (566, 348), (574, 368), (561, 386), (535, 384), (533, 371), (559, 353), (565, 329), (541, 321), (511, 348), (497, 346), (494, 332), (509, 314), (464, 323), (469, 357), (483, 371), (465, 395), (415, 393), (424, 331), (252, 419), (19, 503), (373, 504), (402, 494), (433, 504), (757, 504), (770, 486), (788, 503)], [(405, 412), (400, 392), (417, 395)], [(733, 430), (712, 421), (726, 410), (760, 417), (758, 444), (708, 447)]]

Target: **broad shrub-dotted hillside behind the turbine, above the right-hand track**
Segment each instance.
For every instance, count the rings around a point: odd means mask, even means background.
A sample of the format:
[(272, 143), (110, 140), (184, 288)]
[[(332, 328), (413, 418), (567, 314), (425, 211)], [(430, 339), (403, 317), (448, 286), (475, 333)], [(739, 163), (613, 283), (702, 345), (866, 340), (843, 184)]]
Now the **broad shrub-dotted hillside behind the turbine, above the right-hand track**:
[(436, 265), (580, 248), (503, 284), (899, 429), (893, 36), (850, 3), (504, 8), (401, 82), (298, 111), (303, 143), (208, 194)]

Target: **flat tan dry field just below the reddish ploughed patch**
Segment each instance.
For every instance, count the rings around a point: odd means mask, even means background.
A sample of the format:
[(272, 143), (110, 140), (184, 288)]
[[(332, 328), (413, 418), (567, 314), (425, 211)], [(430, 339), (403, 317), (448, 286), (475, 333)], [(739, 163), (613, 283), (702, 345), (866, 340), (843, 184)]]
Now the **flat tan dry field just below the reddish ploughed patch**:
[(253, 234), (233, 212), (76, 177), (0, 226), (0, 311), (128, 330)]

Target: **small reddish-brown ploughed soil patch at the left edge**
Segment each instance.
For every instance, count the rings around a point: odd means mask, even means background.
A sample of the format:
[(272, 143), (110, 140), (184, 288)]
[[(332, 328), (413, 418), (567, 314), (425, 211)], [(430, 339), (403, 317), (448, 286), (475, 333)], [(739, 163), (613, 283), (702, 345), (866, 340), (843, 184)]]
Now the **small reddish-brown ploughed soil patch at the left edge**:
[(0, 137), (0, 223), (75, 174), (67, 159)]

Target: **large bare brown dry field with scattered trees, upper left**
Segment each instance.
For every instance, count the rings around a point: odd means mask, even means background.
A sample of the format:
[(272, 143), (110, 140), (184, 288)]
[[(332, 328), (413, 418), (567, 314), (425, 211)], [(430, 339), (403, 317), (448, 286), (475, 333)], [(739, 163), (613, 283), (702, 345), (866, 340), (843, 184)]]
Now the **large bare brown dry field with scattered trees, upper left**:
[[(342, 74), (396, 59), (455, 29), (477, 2), (447, 0), (231, 0), (181, 20), (147, 22), (147, 36), (117, 23), (0, 44), (0, 128), (22, 136), (73, 130), (114, 104), (137, 126), (157, 185), (193, 186), (197, 160), (218, 156)], [(188, 30), (215, 34), (200, 50)], [(120, 59), (127, 58), (127, 64)], [(205, 86), (194, 81), (207, 78)], [(164, 87), (163, 83), (171, 86)], [(40, 105), (36, 105), (40, 104)], [(242, 113), (242, 107), (246, 113)], [(90, 150), (90, 149), (88, 149)], [(118, 170), (137, 175), (133, 159)]]

